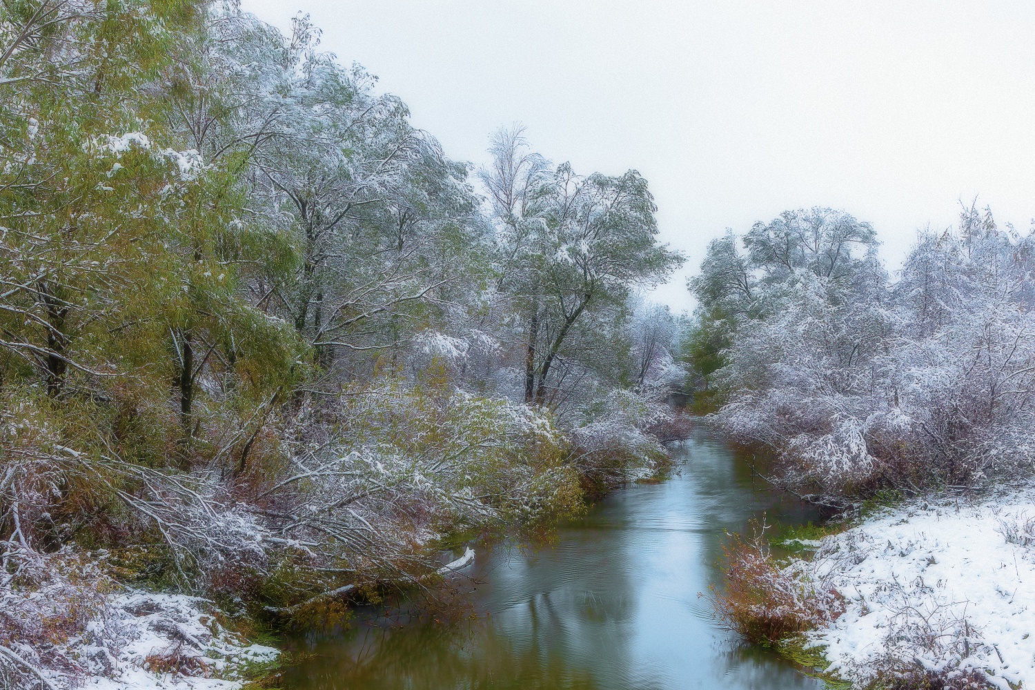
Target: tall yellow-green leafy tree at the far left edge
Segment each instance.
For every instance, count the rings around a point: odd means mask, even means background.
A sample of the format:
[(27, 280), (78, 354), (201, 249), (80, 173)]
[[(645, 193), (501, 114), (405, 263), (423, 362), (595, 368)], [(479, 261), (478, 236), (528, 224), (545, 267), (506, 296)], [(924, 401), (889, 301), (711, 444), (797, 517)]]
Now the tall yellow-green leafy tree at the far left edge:
[(0, 382), (28, 365), (57, 396), (69, 367), (111, 373), (105, 330), (153, 295), (140, 262), (175, 203), (160, 191), (175, 164), (141, 130), (153, 101), (130, 98), (195, 14), (140, 4), (0, 9)]

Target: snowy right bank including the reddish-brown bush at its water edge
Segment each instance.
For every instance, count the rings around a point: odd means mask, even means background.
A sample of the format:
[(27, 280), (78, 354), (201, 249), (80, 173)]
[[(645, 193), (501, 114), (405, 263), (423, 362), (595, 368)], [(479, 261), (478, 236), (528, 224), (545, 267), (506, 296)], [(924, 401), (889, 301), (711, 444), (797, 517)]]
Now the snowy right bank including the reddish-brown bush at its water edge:
[(941, 493), (727, 547), (717, 612), (837, 687), (1035, 683), (1035, 488)]

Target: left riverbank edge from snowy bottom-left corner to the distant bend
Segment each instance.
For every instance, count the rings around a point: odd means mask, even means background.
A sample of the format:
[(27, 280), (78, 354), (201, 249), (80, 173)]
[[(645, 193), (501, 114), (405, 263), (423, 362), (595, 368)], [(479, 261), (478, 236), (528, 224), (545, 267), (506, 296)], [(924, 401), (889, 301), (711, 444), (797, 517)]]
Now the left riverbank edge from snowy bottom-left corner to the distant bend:
[[(614, 464), (611, 470), (616, 475), (619, 463)], [(649, 462), (622, 469), (621, 483), (659, 482), (671, 467), (671, 458), (658, 452)], [(594, 485), (611, 490), (619, 483)], [(588, 492), (582, 496), (589, 499)], [(579, 499), (580, 506), (583, 500)], [(561, 513), (556, 519), (584, 512)], [(523, 538), (540, 540), (549, 529), (550, 523), (540, 523), (536, 531), (522, 533)], [(494, 543), (493, 538), (484, 541), (489, 534), (472, 531), (463, 540), (415, 546), (427, 562), (427, 572), (419, 580), (422, 596), (456, 599), (457, 578), (468, 587), (465, 576), (475, 558), (470, 537), (477, 535), (481, 550)], [(460, 558), (449, 554), (450, 546), (459, 546)], [(382, 604), (387, 591), (401, 599), (408, 595), (397, 581), (367, 583), (362, 590), (351, 583), (304, 601), (307, 608), (302, 610), (300, 605), (263, 607), (276, 592), (260, 595), (253, 587), (241, 590), (232, 602), (226, 593), (221, 598), (216, 594), (230, 606), (228, 610), (237, 612), (230, 617), (214, 601), (177, 593), (184, 591), (182, 587), (170, 590), (168, 578), (147, 580), (154, 559), (129, 558), (130, 551), (140, 556), (147, 549), (121, 549), (116, 557), (107, 549), (69, 545), (49, 554), (24, 553), (19, 577), (8, 578), (8, 589), (0, 590), (0, 688), (238, 690), (250, 680), (272, 678), (283, 661), (278, 650), (254, 643), (257, 630), (272, 625), (274, 631), (278, 627), (341, 631), (349, 627), (357, 606), (387, 605)], [(204, 587), (198, 591), (206, 592)], [(258, 639), (266, 637), (260, 634)]]

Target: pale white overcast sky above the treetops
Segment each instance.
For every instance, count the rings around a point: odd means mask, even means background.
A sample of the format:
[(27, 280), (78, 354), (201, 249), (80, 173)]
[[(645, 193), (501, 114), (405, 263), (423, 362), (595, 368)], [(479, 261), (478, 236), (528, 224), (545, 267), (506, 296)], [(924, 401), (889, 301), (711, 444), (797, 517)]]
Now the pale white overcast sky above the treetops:
[(889, 268), (975, 196), (1035, 217), (1035, 3), (242, 0), (380, 77), (456, 159), (515, 121), (576, 172), (649, 180), (685, 276), (726, 228), (842, 208)]

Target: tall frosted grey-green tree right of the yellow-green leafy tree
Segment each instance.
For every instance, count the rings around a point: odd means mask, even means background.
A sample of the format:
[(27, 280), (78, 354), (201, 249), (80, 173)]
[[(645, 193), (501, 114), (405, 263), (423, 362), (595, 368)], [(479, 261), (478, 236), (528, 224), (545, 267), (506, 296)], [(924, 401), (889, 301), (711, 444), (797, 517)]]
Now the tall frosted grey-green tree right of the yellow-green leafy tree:
[(304, 18), (290, 43), (253, 34), (260, 48), (241, 41), (237, 62), (284, 65), (258, 70), (275, 79), (256, 80), (241, 108), (260, 112), (238, 118), (266, 132), (249, 157), (255, 210), (285, 229), (298, 258), (289, 276), (255, 277), (259, 303), (283, 313), (324, 366), (335, 353), (392, 347), (400, 322), (463, 275), (444, 268), (477, 241), (467, 170), (409, 123), (398, 98), (375, 95), (373, 77), (317, 52)]

